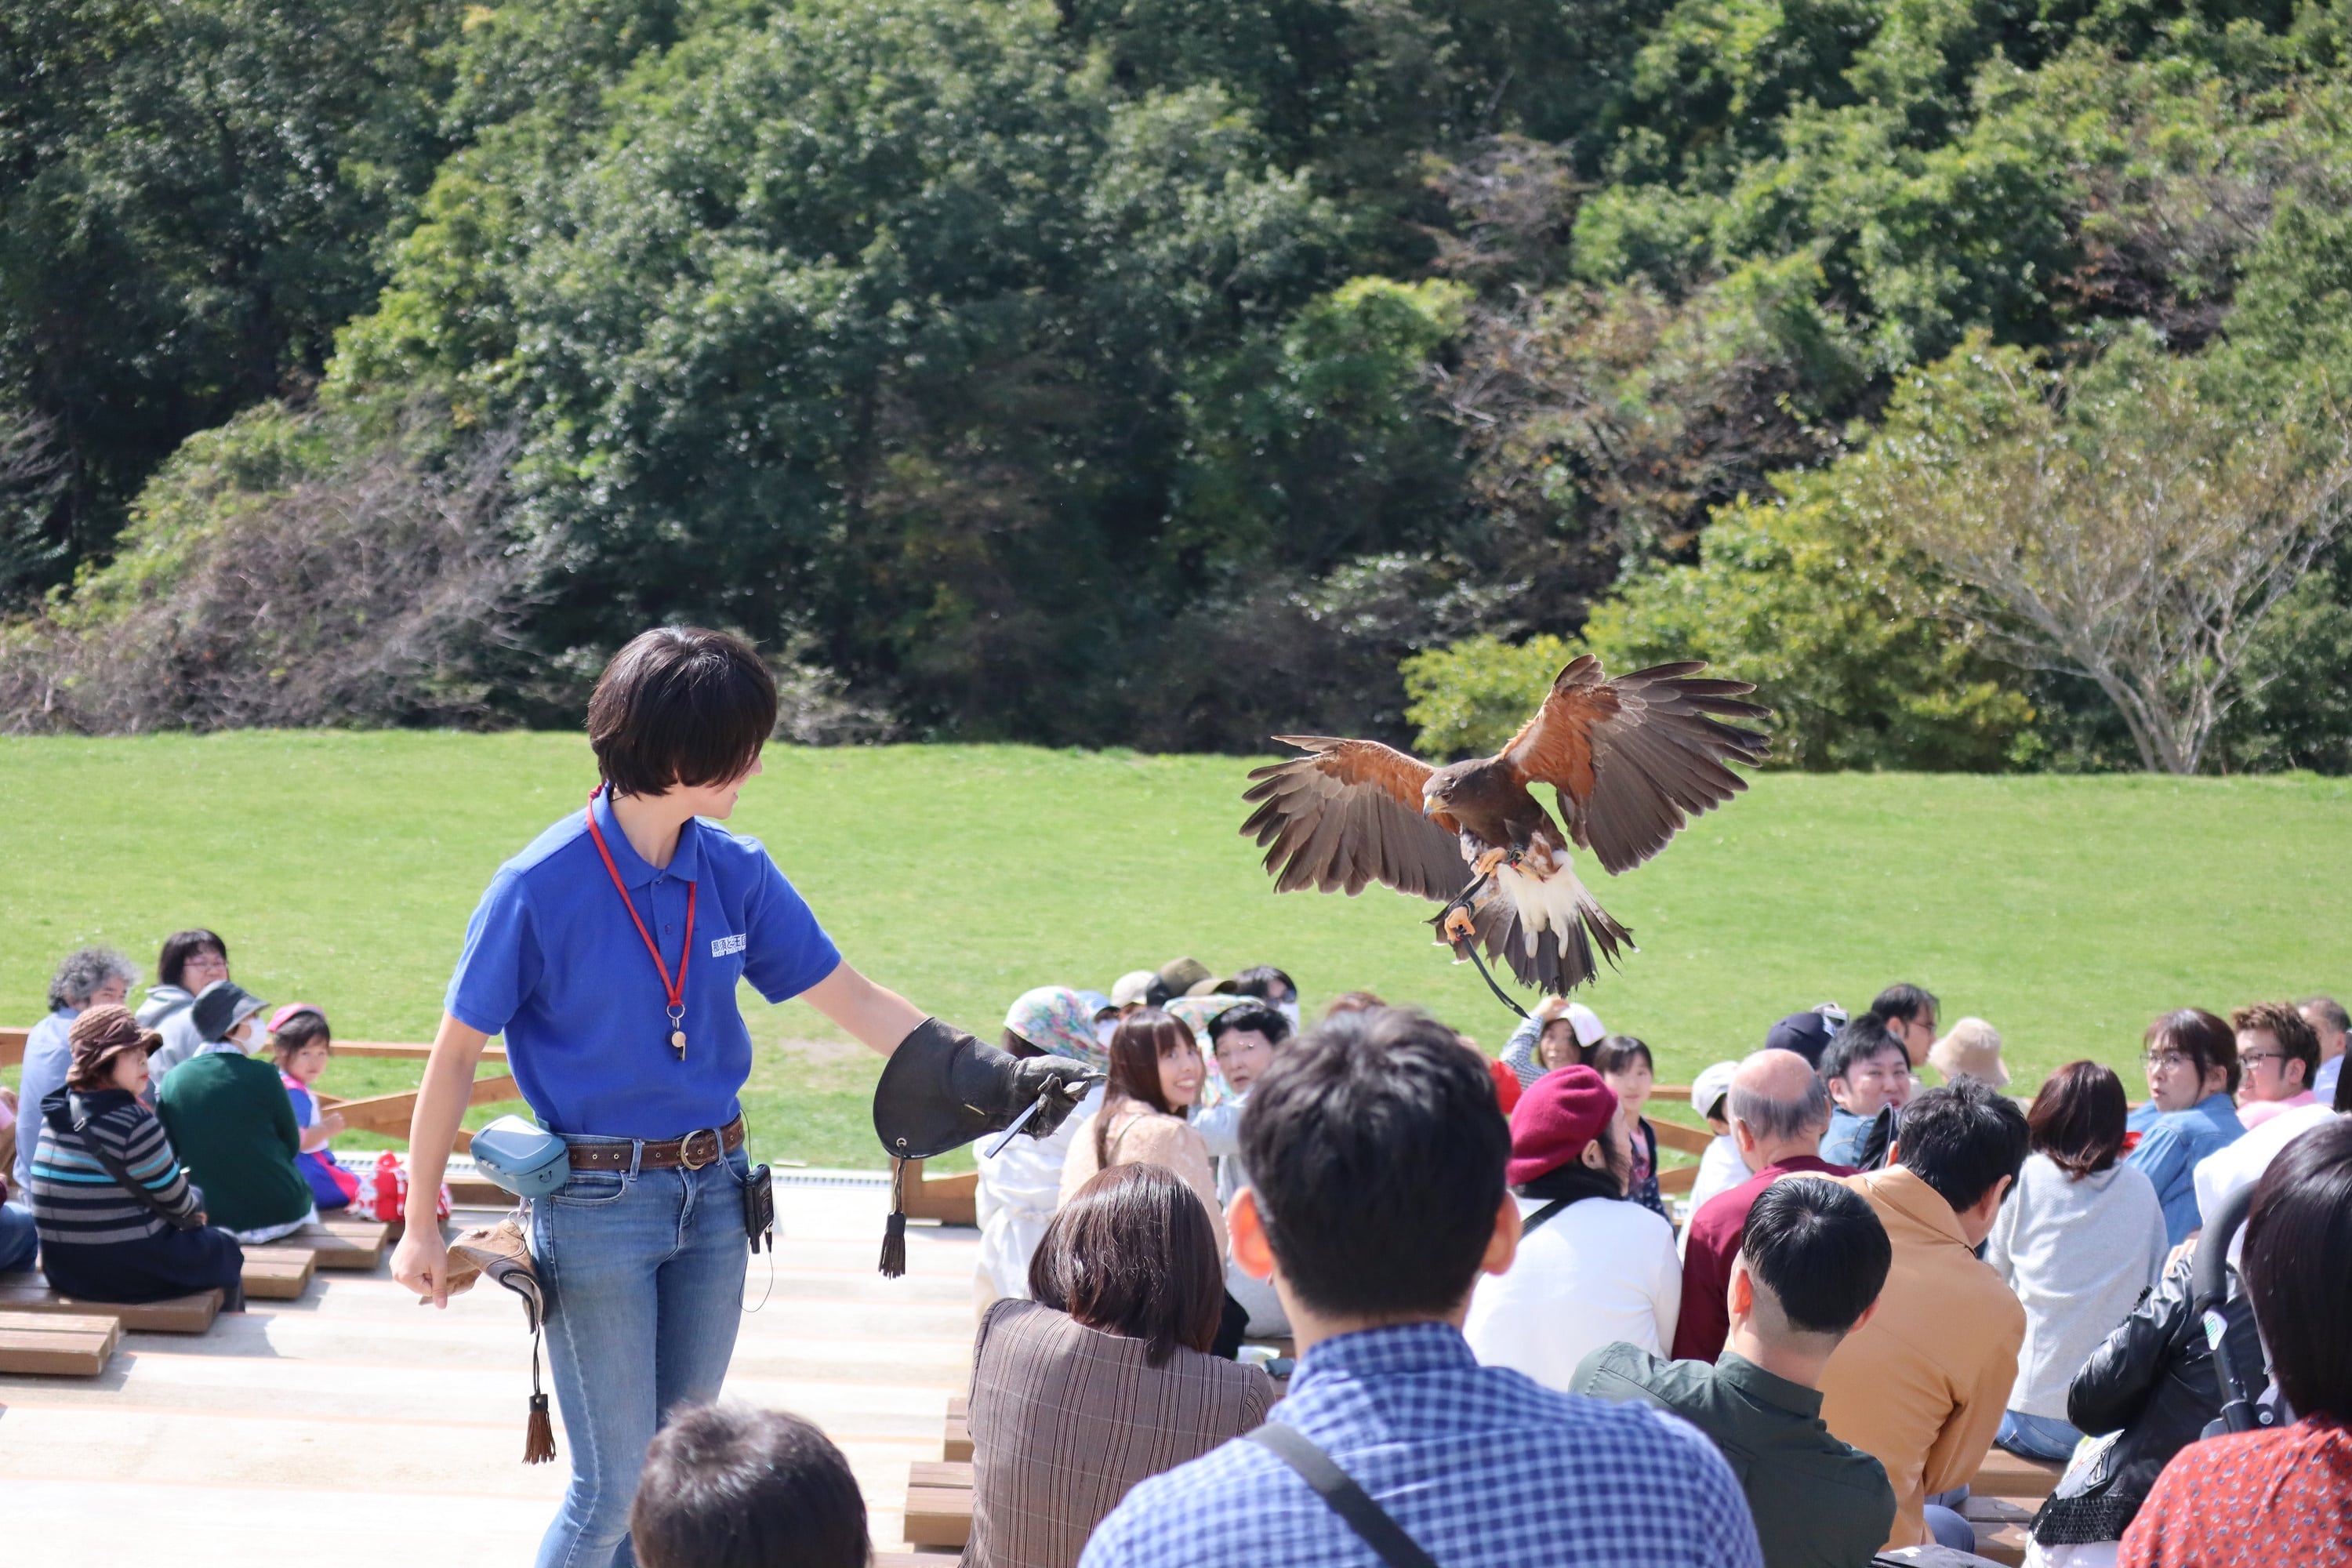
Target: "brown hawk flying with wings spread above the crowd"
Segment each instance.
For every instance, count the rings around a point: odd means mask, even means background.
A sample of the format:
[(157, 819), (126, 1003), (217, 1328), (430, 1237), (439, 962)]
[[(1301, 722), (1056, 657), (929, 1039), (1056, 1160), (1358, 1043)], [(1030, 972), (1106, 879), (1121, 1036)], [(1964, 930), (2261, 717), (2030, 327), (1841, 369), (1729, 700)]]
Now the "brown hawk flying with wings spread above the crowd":
[[(1609, 919), (1569, 867), (1569, 842), (1611, 877), (1665, 849), (1682, 825), (1748, 783), (1726, 764), (1764, 759), (1766, 738), (1724, 719), (1764, 719), (1748, 682), (1696, 679), (1703, 663), (1606, 679), (1590, 654), (1552, 679), (1543, 708), (1494, 757), (1430, 766), (1378, 741), (1275, 736), (1305, 757), (1251, 771), (1256, 811), (1242, 835), (1265, 851), (1275, 891), (1348, 896), (1367, 882), (1465, 907), (1430, 924), (1465, 959), (1468, 943), (1508, 959), (1522, 985), (1566, 994), (1611, 964), (1632, 933)], [(1559, 792), (1566, 832), (1531, 795)]]

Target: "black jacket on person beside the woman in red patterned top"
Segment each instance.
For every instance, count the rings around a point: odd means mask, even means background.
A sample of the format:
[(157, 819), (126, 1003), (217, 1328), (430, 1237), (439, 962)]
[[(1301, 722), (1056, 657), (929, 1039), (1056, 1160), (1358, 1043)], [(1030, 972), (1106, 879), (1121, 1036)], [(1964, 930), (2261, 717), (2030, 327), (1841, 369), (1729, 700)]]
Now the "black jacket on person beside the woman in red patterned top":
[[(2032, 1535), (2049, 1547), (2124, 1540), (2157, 1476), (2176, 1453), (2220, 1415), (2213, 1347), (2197, 1321), (2194, 1255), (2178, 1258), (2124, 1326), (2091, 1352), (2067, 1387), (2067, 1422), (2093, 1436), (2117, 1436), (2077, 1460), (2077, 1469), (2034, 1514)], [(2260, 1366), (2253, 1307), (2234, 1288), (2223, 1305), (2230, 1356)]]

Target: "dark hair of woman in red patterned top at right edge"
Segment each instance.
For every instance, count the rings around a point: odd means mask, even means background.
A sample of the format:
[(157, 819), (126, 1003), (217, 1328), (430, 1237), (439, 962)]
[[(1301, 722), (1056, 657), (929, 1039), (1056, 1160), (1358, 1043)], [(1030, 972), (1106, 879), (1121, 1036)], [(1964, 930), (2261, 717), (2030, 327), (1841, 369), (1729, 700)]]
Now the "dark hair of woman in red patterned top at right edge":
[(2286, 1403), (2352, 1422), (2352, 1121), (2321, 1121), (2263, 1171), (2239, 1274)]

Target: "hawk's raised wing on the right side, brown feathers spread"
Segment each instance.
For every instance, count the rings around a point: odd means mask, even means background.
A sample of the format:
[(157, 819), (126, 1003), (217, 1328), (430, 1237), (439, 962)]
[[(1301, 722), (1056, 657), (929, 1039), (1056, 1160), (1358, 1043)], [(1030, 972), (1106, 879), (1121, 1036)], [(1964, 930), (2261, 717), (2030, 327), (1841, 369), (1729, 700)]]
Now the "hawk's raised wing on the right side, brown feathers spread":
[(1764, 762), (1769, 738), (1724, 719), (1764, 719), (1748, 682), (1696, 679), (1703, 663), (1602, 677), (1590, 654), (1552, 682), (1503, 759), (1522, 785), (1559, 790), (1569, 832), (1611, 875), (1665, 849), (1700, 811), (1748, 788), (1731, 762)]

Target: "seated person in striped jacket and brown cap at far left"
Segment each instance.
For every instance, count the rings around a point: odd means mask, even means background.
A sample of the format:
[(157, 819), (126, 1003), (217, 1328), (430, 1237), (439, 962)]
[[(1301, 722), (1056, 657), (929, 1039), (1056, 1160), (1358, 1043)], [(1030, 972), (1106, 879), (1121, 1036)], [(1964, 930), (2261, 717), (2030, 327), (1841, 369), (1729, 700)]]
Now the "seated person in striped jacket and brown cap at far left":
[(139, 1095), (155, 1030), (120, 1006), (73, 1020), (66, 1086), (40, 1103), (33, 1152), (33, 1222), (49, 1286), (92, 1302), (148, 1302), (221, 1291), (240, 1312), (245, 1248), (205, 1225), (205, 1194), (188, 1182)]

